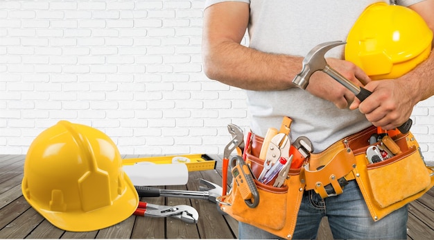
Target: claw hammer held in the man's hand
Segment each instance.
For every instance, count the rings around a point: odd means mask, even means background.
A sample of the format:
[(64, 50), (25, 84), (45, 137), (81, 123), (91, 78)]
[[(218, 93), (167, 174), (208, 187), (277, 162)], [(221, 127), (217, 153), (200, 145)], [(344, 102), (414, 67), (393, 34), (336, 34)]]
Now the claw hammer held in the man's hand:
[[(300, 71), (300, 74), (297, 74), (293, 79), (293, 83), (300, 87), (301, 89), (306, 89), (307, 85), (309, 85), (309, 78), (315, 71), (324, 71), (327, 75), (331, 76), (331, 78), (338, 81), (338, 83), (342, 84), (344, 87), (347, 87), (349, 91), (351, 91), (356, 98), (360, 101), (365, 100), (368, 96), (372, 94), (369, 90), (359, 87), (355, 85), (350, 80), (342, 76), (338, 73), (338, 71), (332, 69), (326, 62), (324, 55), (330, 49), (333, 49), (335, 46), (339, 46), (342, 44), (346, 44), (346, 42), (342, 41), (334, 41), (334, 42), (324, 42), (315, 46), (306, 57), (303, 59), (303, 68)], [(398, 127), (398, 130), (402, 133), (407, 133), (412, 125), (413, 121), (408, 119), (405, 123)]]

